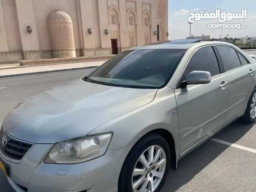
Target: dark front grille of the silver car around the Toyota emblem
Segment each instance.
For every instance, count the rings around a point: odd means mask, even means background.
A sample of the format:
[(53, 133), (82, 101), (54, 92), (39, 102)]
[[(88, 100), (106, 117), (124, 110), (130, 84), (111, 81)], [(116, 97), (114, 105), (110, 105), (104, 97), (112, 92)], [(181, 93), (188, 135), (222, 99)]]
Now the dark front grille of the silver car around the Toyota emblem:
[[(2, 142), (2, 138), (4, 135), (7, 138), (5, 146)], [(7, 134), (4, 133), (3, 129), (1, 129), (0, 132), (0, 141), (1, 152), (5, 156), (13, 160), (21, 160), (24, 157), (24, 155), (28, 152), (28, 150), (33, 146), (30, 143), (22, 142), (20, 140), (16, 140), (15, 138), (8, 136)]]

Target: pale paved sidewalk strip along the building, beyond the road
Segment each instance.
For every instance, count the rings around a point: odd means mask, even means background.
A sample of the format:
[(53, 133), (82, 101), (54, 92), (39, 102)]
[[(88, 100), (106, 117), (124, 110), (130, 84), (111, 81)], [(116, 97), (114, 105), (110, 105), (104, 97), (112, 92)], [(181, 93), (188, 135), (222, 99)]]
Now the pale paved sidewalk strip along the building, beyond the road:
[(9, 68), (9, 69), (0, 69), (0, 78), (9, 77), (9, 76), (19, 76), (27, 74), (38, 74), (38, 73), (47, 73), (55, 71), (64, 71), (64, 70), (74, 70), (82, 68), (93, 68), (100, 66), (106, 62), (103, 61), (94, 61), (94, 62), (83, 62), (83, 63), (70, 63), (70, 64), (59, 64), (59, 65), (47, 65), (47, 66), (33, 66), (33, 67), (22, 67), (22, 68)]

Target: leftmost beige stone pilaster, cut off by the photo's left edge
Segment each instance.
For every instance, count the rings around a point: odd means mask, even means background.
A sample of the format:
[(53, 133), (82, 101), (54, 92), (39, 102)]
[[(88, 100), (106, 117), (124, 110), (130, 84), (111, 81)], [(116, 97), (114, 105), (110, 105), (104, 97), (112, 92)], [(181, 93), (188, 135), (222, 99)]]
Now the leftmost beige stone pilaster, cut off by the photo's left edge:
[(2, 0), (0, 0), (0, 52), (9, 51), (6, 30), (4, 25), (4, 14), (2, 9)]

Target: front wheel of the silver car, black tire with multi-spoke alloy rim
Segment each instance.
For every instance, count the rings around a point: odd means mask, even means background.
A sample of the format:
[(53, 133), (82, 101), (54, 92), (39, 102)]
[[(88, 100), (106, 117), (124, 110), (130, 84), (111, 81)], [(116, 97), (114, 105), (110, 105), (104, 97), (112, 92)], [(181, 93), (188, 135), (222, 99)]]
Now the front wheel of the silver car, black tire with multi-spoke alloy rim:
[(170, 166), (168, 142), (158, 134), (148, 134), (131, 149), (124, 161), (118, 192), (159, 192)]

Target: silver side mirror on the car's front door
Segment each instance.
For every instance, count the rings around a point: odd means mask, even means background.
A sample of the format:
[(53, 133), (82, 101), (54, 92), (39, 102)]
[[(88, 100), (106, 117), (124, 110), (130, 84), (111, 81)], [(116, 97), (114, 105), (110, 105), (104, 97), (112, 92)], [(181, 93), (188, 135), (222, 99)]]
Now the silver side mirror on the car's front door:
[(207, 84), (212, 80), (211, 74), (208, 71), (192, 71), (188, 74), (186, 84)]

